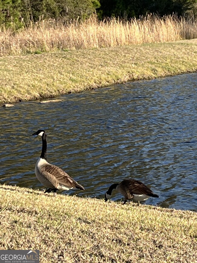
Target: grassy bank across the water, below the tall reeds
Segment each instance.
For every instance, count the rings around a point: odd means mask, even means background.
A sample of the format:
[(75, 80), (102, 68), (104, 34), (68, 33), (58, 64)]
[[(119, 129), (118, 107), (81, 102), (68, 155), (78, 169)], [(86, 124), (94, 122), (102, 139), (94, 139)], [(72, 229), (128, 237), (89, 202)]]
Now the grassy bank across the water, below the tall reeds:
[(197, 39), (0, 58), (0, 102), (197, 70)]

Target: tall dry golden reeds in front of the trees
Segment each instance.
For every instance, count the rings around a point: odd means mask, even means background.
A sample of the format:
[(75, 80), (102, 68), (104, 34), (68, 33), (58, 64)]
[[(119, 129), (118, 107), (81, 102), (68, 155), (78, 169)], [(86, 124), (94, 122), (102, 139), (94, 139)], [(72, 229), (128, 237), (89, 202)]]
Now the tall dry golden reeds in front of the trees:
[(175, 15), (147, 15), (123, 21), (95, 16), (80, 22), (55, 20), (29, 22), (17, 32), (0, 29), (0, 56), (42, 53), (68, 49), (92, 49), (131, 44), (173, 42), (197, 38), (197, 20)]

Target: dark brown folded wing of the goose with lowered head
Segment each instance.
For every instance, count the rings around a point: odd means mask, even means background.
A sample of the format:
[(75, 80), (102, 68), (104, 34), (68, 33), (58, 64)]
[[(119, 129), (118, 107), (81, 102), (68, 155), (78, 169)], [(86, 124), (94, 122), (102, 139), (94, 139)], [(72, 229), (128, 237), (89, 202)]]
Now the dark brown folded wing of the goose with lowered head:
[(130, 194), (153, 194), (153, 192), (145, 184), (134, 179), (123, 180), (122, 187), (125, 188), (125, 192), (129, 192)]

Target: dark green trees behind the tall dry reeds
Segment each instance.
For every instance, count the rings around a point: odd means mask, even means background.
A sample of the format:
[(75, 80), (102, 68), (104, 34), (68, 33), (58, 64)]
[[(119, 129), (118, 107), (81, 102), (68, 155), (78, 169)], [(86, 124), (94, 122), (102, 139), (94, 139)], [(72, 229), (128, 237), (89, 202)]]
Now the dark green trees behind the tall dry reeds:
[(0, 25), (20, 26), (43, 19), (85, 19), (97, 12), (106, 17), (138, 18), (155, 13), (159, 16), (197, 14), (197, 0), (1, 0)]

